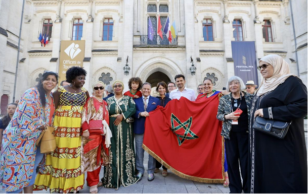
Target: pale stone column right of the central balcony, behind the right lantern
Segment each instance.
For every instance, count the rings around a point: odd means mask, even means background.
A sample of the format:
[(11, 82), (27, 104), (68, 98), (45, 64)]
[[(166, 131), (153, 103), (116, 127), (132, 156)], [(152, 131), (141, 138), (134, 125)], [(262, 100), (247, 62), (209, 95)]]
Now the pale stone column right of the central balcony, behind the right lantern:
[(196, 66), (196, 48), (195, 48), (195, 16), (194, 16), (194, 1), (185, 0), (184, 1), (184, 13), (185, 13), (185, 45), (186, 45), (186, 60), (181, 66), (184, 74), (186, 73), (186, 85), (188, 88), (196, 88), (197, 78), (201, 74), (201, 70), (196, 70), (196, 75), (192, 76), (190, 73), (191, 67), (191, 56), (194, 60)]

